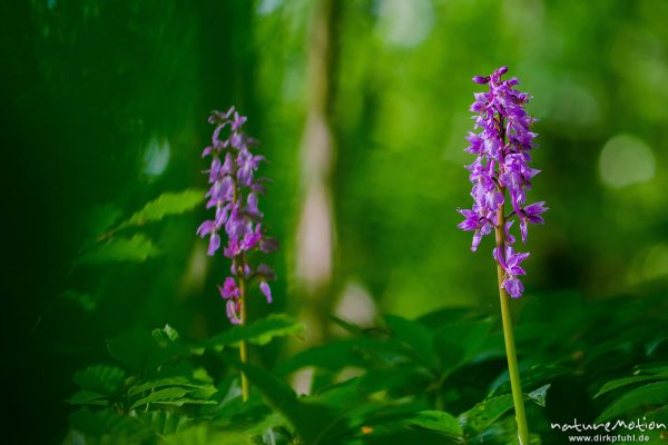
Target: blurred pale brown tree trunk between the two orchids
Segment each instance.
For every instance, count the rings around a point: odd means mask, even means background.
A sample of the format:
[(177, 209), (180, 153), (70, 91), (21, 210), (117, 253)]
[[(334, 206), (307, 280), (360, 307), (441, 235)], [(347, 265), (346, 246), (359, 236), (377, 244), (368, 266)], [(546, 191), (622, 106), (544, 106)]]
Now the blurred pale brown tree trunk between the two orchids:
[(335, 63), (335, 26), (338, 2), (323, 0), (313, 11), (308, 43), (307, 118), (302, 137), (303, 202), (296, 236), (296, 278), (301, 320), (306, 344), (328, 336), (333, 305), (332, 275), (336, 257), (336, 228), (331, 177), (336, 144), (330, 122)]

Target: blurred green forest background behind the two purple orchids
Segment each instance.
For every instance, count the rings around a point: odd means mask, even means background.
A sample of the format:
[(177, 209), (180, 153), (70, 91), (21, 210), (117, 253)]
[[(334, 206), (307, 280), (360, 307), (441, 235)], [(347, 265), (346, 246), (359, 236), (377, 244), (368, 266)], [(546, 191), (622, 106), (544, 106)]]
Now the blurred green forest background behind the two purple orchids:
[[(227, 326), (204, 209), (147, 227), (159, 254), (77, 267), (87, 240), (165, 191), (205, 187), (212, 109), (248, 116), (282, 249), (271, 308), (306, 343), (364, 324), (495, 309), (490, 240), (455, 228), (470, 79), (507, 65), (539, 121), (529, 298), (656, 294), (668, 280), (668, 2), (30, 0), (0, 7), (3, 368), (26, 438), (66, 431), (71, 374), (105, 338)], [(294, 346), (292, 346), (294, 347)], [(269, 355), (288, 354), (292, 347)], [(298, 346), (296, 346), (298, 347)], [(271, 357), (267, 359), (272, 359)], [(29, 418), (33, 416), (32, 418)], [(35, 425), (39, 418), (39, 427)], [(37, 442), (36, 442), (37, 443)]]

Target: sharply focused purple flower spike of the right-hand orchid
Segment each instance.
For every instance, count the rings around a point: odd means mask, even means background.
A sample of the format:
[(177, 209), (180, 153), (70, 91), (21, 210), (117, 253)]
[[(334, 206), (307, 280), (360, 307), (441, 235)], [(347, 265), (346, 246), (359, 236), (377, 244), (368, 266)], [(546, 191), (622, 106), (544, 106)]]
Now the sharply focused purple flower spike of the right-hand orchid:
[(458, 227), (473, 231), (471, 250), (478, 248), (483, 236), (498, 233), (502, 246), (494, 249), (493, 256), (505, 274), (500, 286), (518, 298), (524, 290), (518, 276), (525, 274), (519, 264), (529, 254), (514, 253), (511, 247), (514, 237), (509, 230), (513, 218), (519, 219), (521, 239), (525, 243), (529, 224), (543, 224), (540, 215), (548, 208), (544, 201), (527, 205), (531, 179), (540, 172), (529, 166), (538, 135), (531, 131), (533, 117), (524, 110), (530, 96), (514, 88), (518, 79), (502, 80), (505, 72), (508, 68), (501, 67), (491, 76), (473, 78), (475, 83), (488, 85), (489, 90), (474, 93), (470, 108), (475, 113), (475, 131), (469, 132), (465, 151), (477, 156), (466, 166), (473, 207), (458, 209), (464, 217)]

